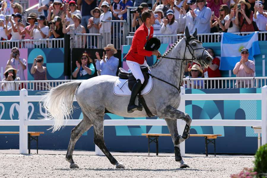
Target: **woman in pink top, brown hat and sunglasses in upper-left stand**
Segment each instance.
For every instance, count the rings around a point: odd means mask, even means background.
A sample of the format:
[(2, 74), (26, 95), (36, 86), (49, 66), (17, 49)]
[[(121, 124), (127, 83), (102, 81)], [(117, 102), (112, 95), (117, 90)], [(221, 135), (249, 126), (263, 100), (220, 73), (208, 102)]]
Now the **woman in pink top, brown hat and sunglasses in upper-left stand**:
[[(21, 31), (21, 33), (25, 36), (24, 39), (33, 39), (33, 37), (30, 36), (31, 29), (34, 28), (34, 23), (36, 21), (37, 15), (36, 13), (30, 13), (30, 15), (27, 17), (28, 23), (30, 25), (26, 26), (24, 30)], [(33, 48), (32, 42), (25, 42), (26, 48)]]

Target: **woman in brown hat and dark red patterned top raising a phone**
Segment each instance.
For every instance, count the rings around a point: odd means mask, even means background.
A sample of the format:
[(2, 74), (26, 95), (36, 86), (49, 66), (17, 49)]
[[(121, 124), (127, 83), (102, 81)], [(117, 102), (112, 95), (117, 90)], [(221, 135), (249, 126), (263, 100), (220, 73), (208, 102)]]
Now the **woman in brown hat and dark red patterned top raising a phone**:
[(253, 26), (253, 11), (249, 10), (251, 5), (245, 0), (239, 0), (236, 5), (235, 23), (239, 26), (240, 32), (255, 31)]

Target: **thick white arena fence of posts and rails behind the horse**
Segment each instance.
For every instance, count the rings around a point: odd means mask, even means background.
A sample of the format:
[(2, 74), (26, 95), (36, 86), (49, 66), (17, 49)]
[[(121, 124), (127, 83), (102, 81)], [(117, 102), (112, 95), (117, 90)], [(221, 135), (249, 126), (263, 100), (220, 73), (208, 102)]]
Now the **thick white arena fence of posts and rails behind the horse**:
[[(178, 110), (185, 112), (186, 100), (261, 100), (262, 120), (193, 120), (192, 126), (262, 126), (262, 144), (267, 143), (267, 86), (260, 93), (249, 94), (185, 94), (185, 88), (181, 88), (181, 102)], [(42, 96), (28, 96), (26, 89), (20, 90), (20, 96), (0, 96), (0, 102), (20, 102), (19, 120), (0, 120), (1, 126), (20, 126), (20, 153), (26, 154), (28, 150), (27, 132), (29, 125), (53, 125), (53, 120), (28, 120), (28, 102), (42, 101)], [(74, 97), (74, 101), (76, 98)], [(77, 125), (81, 120), (65, 120), (65, 125)], [(104, 120), (104, 126), (114, 125), (166, 125), (164, 120)], [(185, 122), (177, 120), (179, 133), (184, 130)], [(181, 153), (185, 155), (185, 142), (180, 144)], [(100, 153), (96, 147), (96, 153)]]

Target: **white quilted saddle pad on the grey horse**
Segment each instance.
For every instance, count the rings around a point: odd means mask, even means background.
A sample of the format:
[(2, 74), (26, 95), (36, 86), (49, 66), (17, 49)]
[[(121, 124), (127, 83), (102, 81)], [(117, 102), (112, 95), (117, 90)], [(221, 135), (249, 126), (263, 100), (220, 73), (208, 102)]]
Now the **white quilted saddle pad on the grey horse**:
[[(151, 74), (150, 70), (148, 70), (148, 72)], [(145, 95), (148, 92), (150, 92), (150, 90), (152, 89), (152, 86), (153, 86), (153, 79), (150, 76), (147, 81), (147, 85), (141, 91), (141, 95)], [(118, 77), (113, 86), (113, 93), (118, 96), (131, 96), (132, 92), (128, 87), (128, 80), (121, 79)]]

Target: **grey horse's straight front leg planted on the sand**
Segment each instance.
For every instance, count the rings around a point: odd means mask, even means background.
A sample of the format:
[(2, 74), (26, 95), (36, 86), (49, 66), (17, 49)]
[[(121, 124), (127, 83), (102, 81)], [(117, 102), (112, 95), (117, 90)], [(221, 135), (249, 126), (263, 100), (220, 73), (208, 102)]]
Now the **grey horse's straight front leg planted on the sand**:
[(189, 168), (189, 166), (187, 165), (187, 163), (185, 163), (185, 161), (183, 160), (182, 156), (181, 156), (181, 152), (180, 152), (180, 139), (181, 136), (178, 134), (178, 130), (177, 130), (177, 119), (166, 119), (165, 121), (167, 123), (167, 126), (169, 128), (169, 131), (171, 133), (171, 138), (172, 141), (174, 143), (174, 154), (175, 154), (175, 161), (179, 161), (180, 162), (180, 168)]

